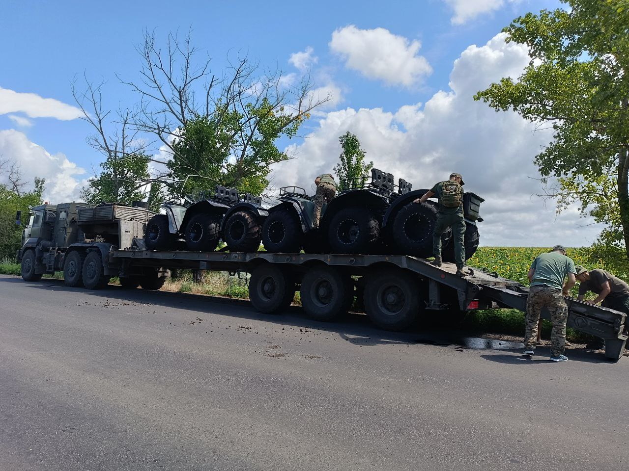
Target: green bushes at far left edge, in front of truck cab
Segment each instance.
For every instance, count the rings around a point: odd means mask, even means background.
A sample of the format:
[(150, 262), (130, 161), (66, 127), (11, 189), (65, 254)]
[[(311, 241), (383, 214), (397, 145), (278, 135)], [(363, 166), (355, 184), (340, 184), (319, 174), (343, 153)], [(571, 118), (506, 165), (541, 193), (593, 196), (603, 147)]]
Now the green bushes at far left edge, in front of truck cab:
[[(21, 247), (22, 231), (28, 221), (28, 206), (42, 203), (43, 178), (35, 178), (35, 188), (28, 193), (18, 193), (0, 184), (0, 259), (14, 259)], [(22, 225), (15, 224), (17, 211), (22, 212)]]

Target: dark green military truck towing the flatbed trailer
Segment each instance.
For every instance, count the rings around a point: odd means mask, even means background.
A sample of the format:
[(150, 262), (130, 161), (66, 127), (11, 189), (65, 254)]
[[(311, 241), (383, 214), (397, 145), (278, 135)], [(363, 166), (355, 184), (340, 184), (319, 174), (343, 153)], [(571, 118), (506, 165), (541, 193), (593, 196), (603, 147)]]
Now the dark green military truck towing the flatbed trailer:
[[(36, 281), (43, 274), (63, 271), (67, 286), (95, 290), (106, 286), (112, 276), (119, 276), (125, 288), (159, 290), (167, 270), (131, 266), (111, 257), (111, 251), (130, 247), (135, 237), (143, 236), (147, 220), (155, 215), (145, 204), (62, 203), (30, 208), (17, 254), (22, 278)], [(21, 224), (19, 214), (16, 220)]]

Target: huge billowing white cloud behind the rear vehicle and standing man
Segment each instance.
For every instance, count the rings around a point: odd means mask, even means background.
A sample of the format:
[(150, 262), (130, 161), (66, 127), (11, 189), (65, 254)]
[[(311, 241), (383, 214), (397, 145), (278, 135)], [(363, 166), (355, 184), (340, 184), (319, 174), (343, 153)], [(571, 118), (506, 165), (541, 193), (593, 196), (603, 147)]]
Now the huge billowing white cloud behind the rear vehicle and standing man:
[(430, 188), (457, 171), (465, 189), (486, 199), (481, 205), (483, 245), (589, 245), (600, 226), (579, 219), (576, 208), (555, 215), (552, 202), (536, 197), (540, 182), (533, 157), (552, 140), (549, 130), (535, 131), (513, 112), (496, 113), (472, 96), (491, 82), (517, 77), (528, 63), (526, 48), (505, 43), (499, 34), (484, 46), (469, 46), (454, 62), (448, 90), (425, 104), (408, 104), (394, 112), (375, 109), (331, 111), (302, 144), (287, 151), (296, 156), (273, 172), (277, 186), (311, 188), (316, 175), (338, 162), (338, 136), (358, 136), (367, 160), (376, 168)]

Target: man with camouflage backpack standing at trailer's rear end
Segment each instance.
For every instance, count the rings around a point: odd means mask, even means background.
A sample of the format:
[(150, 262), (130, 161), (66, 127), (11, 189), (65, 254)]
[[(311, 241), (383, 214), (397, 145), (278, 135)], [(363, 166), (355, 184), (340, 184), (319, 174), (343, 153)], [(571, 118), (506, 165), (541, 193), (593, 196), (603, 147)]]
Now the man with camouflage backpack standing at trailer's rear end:
[(450, 174), (450, 180), (440, 181), (432, 189), (424, 193), (421, 198), (413, 203), (424, 203), (428, 198), (437, 195), (439, 199), (439, 212), (435, 222), (433, 233), (433, 256), (435, 261), (431, 264), (441, 266), (441, 236), (443, 232), (452, 227), (454, 237), (454, 260), (457, 264), (457, 276), (465, 276), (465, 219), (463, 216), (463, 177), (460, 173)]

